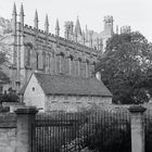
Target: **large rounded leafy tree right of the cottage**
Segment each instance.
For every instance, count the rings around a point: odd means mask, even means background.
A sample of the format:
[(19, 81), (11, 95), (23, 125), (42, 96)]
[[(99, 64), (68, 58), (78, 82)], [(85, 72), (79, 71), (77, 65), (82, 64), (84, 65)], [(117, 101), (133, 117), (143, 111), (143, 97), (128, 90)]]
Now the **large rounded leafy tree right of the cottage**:
[(114, 103), (139, 103), (149, 100), (148, 71), (152, 65), (152, 45), (138, 31), (114, 35), (96, 66), (113, 93)]

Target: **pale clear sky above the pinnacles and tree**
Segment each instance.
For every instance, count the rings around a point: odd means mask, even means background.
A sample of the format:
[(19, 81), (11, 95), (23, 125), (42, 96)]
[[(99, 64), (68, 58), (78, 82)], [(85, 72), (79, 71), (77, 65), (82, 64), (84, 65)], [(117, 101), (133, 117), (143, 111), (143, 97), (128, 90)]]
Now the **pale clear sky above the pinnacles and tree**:
[(103, 17), (114, 17), (114, 30), (129, 25), (131, 30), (140, 31), (149, 41), (152, 41), (152, 0), (0, 0), (0, 16), (11, 18), (13, 3), (20, 12), (23, 2), (25, 23), (34, 25), (35, 11), (39, 16), (39, 27), (43, 29), (46, 14), (49, 16), (50, 33), (54, 33), (55, 22), (59, 18), (61, 33), (64, 31), (64, 22), (76, 22), (79, 17), (81, 28), (87, 25), (97, 33), (103, 30)]

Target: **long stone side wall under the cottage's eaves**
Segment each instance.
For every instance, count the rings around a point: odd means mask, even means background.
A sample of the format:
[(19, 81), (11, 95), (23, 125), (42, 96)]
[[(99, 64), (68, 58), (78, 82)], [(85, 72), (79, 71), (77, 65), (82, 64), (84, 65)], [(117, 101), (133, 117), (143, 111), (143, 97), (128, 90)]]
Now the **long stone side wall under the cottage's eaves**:
[(93, 105), (105, 106), (110, 104), (112, 104), (112, 98), (107, 97), (48, 96), (45, 101), (45, 111), (77, 112)]

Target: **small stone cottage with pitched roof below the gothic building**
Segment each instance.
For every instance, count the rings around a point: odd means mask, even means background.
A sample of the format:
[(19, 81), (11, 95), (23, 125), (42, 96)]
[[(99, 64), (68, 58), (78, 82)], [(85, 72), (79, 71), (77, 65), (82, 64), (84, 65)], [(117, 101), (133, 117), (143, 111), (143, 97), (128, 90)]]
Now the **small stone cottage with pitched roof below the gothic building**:
[(79, 111), (92, 104), (112, 103), (112, 94), (96, 77), (33, 73), (20, 92), (26, 105), (41, 111)]

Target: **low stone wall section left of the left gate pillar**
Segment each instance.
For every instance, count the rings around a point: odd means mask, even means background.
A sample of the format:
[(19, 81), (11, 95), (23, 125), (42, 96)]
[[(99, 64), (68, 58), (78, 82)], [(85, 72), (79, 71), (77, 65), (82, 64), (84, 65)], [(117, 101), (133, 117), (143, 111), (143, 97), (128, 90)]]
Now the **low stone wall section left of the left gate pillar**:
[(0, 114), (0, 152), (16, 151), (16, 116)]

